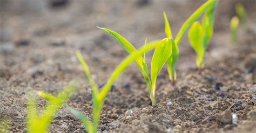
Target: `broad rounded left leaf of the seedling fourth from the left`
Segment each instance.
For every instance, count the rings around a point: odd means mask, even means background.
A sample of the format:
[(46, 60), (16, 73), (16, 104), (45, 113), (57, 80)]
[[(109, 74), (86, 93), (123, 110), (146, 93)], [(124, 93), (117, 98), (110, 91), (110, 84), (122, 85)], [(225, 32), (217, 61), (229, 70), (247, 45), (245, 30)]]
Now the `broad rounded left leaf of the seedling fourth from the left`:
[(197, 67), (202, 68), (204, 65), (204, 55), (205, 55), (205, 45), (204, 45), (204, 28), (201, 26), (201, 24), (196, 21), (193, 23), (193, 25), (190, 28), (190, 31), (188, 32), (188, 40), (190, 41), (190, 44), (192, 48), (197, 53)]

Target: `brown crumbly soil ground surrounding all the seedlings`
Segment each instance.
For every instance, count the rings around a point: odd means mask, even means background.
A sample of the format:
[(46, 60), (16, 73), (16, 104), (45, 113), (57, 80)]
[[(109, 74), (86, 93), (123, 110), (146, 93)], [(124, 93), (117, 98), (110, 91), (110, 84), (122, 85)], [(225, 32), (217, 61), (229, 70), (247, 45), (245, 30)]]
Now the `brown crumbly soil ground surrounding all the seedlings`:
[[(12, 132), (26, 132), (28, 91), (56, 94), (77, 78), (83, 79), (83, 86), (67, 104), (91, 117), (91, 88), (75, 51), (82, 51), (99, 86), (127, 56), (96, 26), (120, 33), (139, 48), (146, 37), (165, 38), (163, 11), (175, 35), (204, 2), (0, 0), (0, 120), (8, 116)], [(248, 12), (249, 30), (240, 26), (238, 43), (233, 45), (229, 24), (238, 2)], [(156, 106), (150, 105), (143, 76), (133, 63), (107, 95), (99, 132), (256, 132), (256, 101), (249, 93), (256, 84), (255, 6), (254, 0), (220, 0), (205, 69), (198, 73), (186, 35), (179, 46), (177, 83), (169, 81), (165, 66), (157, 81)], [(149, 64), (151, 57), (152, 52), (147, 54)], [(42, 108), (46, 101), (37, 98)], [(62, 107), (50, 132), (86, 130)]]

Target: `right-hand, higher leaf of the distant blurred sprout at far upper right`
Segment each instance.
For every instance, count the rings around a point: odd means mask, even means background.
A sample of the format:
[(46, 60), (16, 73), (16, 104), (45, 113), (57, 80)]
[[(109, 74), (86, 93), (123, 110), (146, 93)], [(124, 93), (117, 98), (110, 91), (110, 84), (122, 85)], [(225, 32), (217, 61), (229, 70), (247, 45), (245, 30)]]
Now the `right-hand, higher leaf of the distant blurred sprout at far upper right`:
[(244, 8), (244, 6), (240, 3), (235, 5), (235, 12), (237, 13), (237, 16), (241, 20), (241, 24), (244, 27), (245, 31), (248, 29), (248, 23), (247, 23), (247, 13)]

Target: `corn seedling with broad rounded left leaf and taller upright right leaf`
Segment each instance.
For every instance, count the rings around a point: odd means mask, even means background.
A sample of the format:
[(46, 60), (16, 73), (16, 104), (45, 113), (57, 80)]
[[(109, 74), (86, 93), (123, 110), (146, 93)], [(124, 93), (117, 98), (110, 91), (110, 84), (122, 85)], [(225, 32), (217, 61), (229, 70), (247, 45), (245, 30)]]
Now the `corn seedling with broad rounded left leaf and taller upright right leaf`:
[(216, 6), (217, 3), (206, 10), (202, 25), (199, 21), (196, 21), (192, 24), (190, 31), (188, 32), (190, 44), (197, 53), (196, 64), (199, 70), (204, 68), (206, 49), (213, 35)]

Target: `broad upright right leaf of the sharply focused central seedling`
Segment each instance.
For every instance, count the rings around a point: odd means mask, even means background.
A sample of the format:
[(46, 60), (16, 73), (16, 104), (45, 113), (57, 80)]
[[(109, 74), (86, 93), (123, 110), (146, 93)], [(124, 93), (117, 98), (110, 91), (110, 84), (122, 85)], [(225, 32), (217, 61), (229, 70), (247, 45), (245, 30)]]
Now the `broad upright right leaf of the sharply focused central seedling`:
[(152, 81), (152, 94), (151, 97), (154, 97), (154, 92), (156, 90), (156, 81), (157, 76), (161, 69), (164, 67), (165, 62), (172, 54), (172, 43), (170, 38), (165, 38), (161, 40), (156, 49), (151, 61), (151, 81)]

